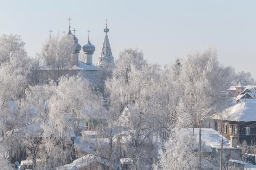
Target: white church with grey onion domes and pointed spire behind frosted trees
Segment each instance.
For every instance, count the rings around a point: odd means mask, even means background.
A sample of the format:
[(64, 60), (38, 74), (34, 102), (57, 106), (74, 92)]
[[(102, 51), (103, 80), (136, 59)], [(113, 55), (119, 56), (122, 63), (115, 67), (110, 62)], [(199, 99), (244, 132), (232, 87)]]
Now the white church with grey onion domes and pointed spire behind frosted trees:
[[(41, 66), (39, 70), (35, 70), (35, 73), (37, 73), (38, 75), (40, 74), (35, 84), (47, 83), (47, 81), (49, 81), (50, 79), (53, 79), (52, 75), (55, 73), (52, 74), (52, 72), (57, 72), (57, 71), (60, 72), (58, 73), (58, 76), (62, 76), (66, 74), (68, 74), (69, 76), (72, 76), (72, 75), (78, 75), (80, 73), (82, 74), (83, 77), (89, 79), (90, 82), (96, 82), (97, 71), (100, 70), (101, 68), (107, 67), (109, 64), (114, 64), (114, 57), (112, 56), (111, 47), (108, 39), (109, 29), (107, 28), (107, 23), (106, 23), (106, 27), (103, 30), (105, 32), (105, 37), (103, 40), (101, 53), (100, 53), (100, 56), (98, 57), (98, 62), (96, 66), (92, 64), (93, 54), (95, 52), (95, 46), (92, 45), (92, 43), (90, 42), (90, 37), (88, 36), (88, 42), (83, 47), (81, 47), (81, 45), (78, 43), (77, 37), (71, 33), (70, 28), (71, 27), (69, 25), (69, 31), (65, 36), (74, 37), (75, 50), (70, 56), (69, 67), (63, 70), (56, 70), (51, 65), (45, 64)], [(88, 32), (90, 33), (90, 31)], [(46, 54), (47, 54), (48, 47), (49, 45), (46, 45), (44, 48)], [(78, 56), (81, 49), (83, 50), (84, 61), (78, 60)]]

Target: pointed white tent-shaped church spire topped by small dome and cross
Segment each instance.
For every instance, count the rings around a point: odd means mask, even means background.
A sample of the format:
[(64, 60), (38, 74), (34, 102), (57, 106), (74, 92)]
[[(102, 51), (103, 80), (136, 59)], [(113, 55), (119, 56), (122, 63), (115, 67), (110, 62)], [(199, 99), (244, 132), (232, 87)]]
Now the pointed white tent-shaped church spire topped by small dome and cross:
[(107, 19), (106, 19), (106, 28), (103, 31), (105, 32), (105, 37), (103, 40), (99, 61), (97, 63), (98, 67), (104, 67), (105, 65), (108, 65), (108, 64), (114, 64), (114, 57), (112, 56), (109, 39), (108, 39), (109, 29), (107, 28)]

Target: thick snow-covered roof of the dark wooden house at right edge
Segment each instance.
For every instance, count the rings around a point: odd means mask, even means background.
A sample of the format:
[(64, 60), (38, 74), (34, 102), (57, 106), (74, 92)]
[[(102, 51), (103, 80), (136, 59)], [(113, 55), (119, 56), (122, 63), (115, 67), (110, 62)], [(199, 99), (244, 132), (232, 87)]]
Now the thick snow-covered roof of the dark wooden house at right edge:
[(213, 115), (211, 118), (237, 122), (256, 121), (256, 103), (247, 101), (238, 103)]

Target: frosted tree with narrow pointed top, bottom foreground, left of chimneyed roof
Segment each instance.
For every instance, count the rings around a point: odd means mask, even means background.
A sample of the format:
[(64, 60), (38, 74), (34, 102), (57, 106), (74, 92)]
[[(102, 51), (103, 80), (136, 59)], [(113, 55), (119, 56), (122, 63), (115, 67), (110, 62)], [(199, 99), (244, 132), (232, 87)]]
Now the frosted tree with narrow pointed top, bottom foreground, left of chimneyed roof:
[(154, 170), (191, 170), (198, 169), (198, 143), (185, 128), (191, 124), (189, 114), (183, 101), (177, 104), (177, 121), (169, 127), (169, 138), (164, 144), (160, 160), (154, 164)]

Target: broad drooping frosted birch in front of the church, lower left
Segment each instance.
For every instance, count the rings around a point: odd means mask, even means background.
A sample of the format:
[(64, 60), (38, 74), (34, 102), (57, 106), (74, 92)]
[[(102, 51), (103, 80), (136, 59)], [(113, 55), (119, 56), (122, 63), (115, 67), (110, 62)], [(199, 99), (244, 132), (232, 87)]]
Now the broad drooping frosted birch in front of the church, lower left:
[[(37, 110), (32, 123), (38, 125), (26, 135), (28, 157), (34, 167), (51, 169), (71, 161), (71, 137), (79, 115), (91, 106), (93, 94), (89, 82), (80, 75), (62, 76), (58, 85), (30, 87), (26, 91), (28, 105)], [(40, 159), (40, 162), (36, 162)]]

